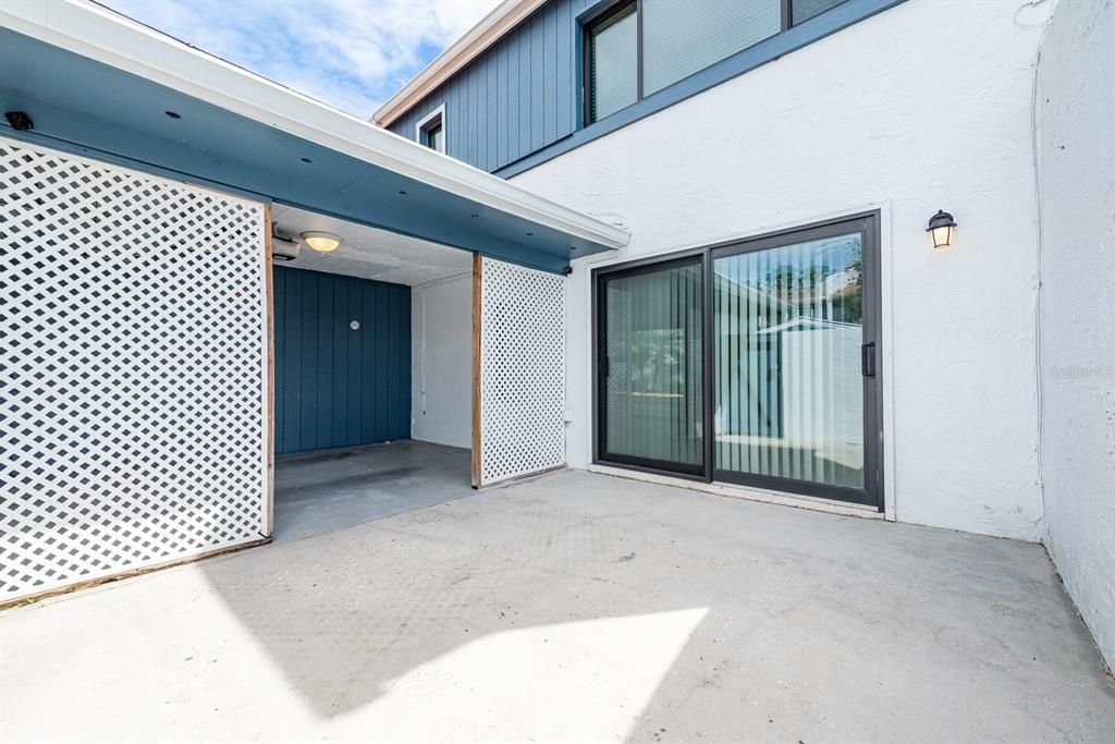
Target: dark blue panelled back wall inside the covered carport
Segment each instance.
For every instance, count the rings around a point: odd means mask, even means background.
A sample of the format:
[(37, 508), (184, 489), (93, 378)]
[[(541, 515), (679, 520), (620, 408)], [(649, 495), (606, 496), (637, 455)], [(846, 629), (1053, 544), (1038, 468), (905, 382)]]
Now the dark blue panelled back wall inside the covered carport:
[(410, 436), (409, 287), (275, 267), (274, 321), (278, 454)]

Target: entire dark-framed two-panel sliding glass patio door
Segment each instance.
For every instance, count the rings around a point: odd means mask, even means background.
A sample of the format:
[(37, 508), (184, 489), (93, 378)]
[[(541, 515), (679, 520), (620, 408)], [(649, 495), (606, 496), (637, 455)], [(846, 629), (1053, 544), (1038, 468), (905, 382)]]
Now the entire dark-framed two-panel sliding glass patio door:
[(598, 460), (879, 505), (875, 216), (598, 274)]

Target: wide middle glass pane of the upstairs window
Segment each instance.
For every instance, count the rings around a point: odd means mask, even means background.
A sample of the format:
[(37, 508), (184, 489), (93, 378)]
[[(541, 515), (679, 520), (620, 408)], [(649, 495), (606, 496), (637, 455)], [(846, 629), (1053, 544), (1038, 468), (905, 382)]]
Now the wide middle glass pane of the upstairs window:
[(643, 95), (782, 30), (780, 0), (643, 0)]

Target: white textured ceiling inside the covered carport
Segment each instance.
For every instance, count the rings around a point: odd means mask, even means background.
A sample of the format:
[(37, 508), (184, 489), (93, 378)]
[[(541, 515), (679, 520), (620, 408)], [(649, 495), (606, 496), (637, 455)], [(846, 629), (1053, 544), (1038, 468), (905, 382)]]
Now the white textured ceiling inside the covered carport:
[(410, 286), (464, 273), (472, 268), (473, 257), (467, 251), (293, 206), (275, 205), (272, 220), (280, 234), (297, 238), (317, 230), (343, 239), (340, 247), (329, 253), (318, 253), (302, 245), (297, 259), (280, 264), (284, 267)]

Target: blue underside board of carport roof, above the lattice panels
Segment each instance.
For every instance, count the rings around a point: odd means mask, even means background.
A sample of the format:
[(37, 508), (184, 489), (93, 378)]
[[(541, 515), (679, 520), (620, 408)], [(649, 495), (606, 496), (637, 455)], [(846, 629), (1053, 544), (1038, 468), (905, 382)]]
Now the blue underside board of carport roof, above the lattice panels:
[(4, 28), (0, 110), (35, 122), (10, 138), (534, 269), (603, 250)]

